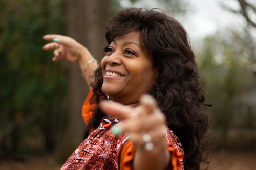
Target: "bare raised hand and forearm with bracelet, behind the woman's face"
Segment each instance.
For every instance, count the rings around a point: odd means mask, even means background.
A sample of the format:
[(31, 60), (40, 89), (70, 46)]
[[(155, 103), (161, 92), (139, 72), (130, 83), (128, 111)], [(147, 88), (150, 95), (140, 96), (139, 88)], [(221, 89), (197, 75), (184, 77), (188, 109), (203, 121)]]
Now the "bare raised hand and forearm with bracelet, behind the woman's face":
[(42, 47), (44, 50), (54, 50), (54, 57), (52, 60), (67, 60), (78, 63), (82, 77), (86, 80), (87, 85), (91, 87), (91, 84), (94, 81), (94, 71), (98, 68), (98, 64), (89, 50), (68, 36), (49, 34), (45, 35), (43, 39), (54, 41), (47, 43)]

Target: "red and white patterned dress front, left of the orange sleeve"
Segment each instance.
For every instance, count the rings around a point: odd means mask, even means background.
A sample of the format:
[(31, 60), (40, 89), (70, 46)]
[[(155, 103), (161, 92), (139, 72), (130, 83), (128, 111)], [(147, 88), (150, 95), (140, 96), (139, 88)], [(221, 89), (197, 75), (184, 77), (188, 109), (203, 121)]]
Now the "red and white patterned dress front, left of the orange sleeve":
[(111, 134), (110, 127), (117, 123), (103, 119), (100, 126), (72, 153), (63, 169), (117, 169), (116, 149), (120, 138)]

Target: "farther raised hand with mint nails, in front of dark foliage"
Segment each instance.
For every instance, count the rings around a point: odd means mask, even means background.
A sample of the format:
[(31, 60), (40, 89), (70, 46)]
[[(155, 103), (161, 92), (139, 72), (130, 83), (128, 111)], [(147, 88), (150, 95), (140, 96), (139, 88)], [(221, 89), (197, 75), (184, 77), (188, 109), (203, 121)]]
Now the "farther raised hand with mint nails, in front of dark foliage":
[(42, 47), (44, 50), (54, 50), (52, 61), (68, 60), (76, 63), (79, 62), (82, 53), (87, 51), (86, 47), (68, 36), (48, 34), (43, 37), (48, 41), (54, 41), (55, 38), (59, 42), (50, 42)]

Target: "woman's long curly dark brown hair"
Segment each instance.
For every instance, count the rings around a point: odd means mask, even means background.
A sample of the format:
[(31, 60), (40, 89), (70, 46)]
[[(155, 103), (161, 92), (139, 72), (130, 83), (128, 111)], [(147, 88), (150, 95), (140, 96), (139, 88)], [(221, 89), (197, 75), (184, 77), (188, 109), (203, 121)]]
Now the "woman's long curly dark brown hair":
[[(195, 55), (187, 33), (174, 18), (157, 9), (129, 8), (119, 12), (106, 28), (105, 37), (110, 44), (114, 38), (140, 31), (141, 45), (153, 54), (154, 67), (159, 68), (157, 84), (151, 94), (166, 117), (167, 126), (181, 141), (184, 151), (184, 168), (200, 169), (203, 160), (202, 139), (209, 127), (205, 111), (203, 83), (200, 81)], [(99, 104), (106, 98), (101, 91), (101, 68), (95, 71), (94, 96), (91, 102)], [(98, 127), (104, 113), (95, 108), (84, 138), (91, 127)]]

